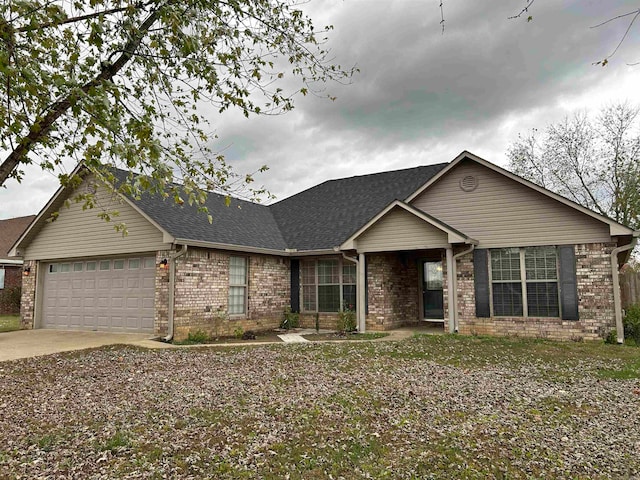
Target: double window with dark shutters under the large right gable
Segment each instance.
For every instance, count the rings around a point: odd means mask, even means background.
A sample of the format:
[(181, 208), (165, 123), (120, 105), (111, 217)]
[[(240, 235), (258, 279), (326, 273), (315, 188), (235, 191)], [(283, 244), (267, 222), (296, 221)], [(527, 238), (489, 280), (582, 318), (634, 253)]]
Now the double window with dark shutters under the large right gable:
[(555, 247), (491, 250), (493, 315), (559, 317)]

